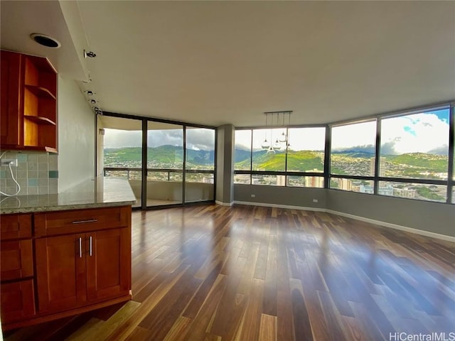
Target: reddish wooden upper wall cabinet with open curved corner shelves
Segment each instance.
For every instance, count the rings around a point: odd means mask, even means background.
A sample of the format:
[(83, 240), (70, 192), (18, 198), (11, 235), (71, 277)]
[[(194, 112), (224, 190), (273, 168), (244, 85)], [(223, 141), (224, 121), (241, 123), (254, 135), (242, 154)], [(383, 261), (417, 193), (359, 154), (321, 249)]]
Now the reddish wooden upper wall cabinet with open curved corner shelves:
[(45, 58), (1, 51), (1, 148), (57, 151), (57, 72)]

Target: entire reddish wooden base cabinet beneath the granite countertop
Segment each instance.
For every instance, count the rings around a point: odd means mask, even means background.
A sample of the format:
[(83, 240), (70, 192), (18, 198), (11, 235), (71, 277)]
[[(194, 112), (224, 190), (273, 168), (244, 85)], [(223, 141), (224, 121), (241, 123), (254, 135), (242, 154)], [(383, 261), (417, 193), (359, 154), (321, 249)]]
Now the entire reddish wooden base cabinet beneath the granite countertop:
[(131, 299), (130, 206), (2, 215), (1, 227), (15, 238), (1, 241), (4, 330)]

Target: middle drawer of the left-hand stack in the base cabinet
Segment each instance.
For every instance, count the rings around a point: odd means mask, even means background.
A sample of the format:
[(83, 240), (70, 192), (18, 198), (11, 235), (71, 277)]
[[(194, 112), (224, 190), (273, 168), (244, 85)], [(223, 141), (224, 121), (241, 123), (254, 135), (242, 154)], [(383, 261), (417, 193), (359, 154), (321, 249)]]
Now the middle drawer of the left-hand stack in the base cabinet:
[(19, 279), (33, 276), (31, 239), (0, 243), (0, 279)]

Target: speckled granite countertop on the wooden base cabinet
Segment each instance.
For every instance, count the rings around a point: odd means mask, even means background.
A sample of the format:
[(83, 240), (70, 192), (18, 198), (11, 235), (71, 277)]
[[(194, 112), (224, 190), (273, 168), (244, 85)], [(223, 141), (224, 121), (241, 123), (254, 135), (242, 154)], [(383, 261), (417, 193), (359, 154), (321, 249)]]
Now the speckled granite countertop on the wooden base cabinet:
[(136, 197), (123, 178), (95, 178), (58, 194), (1, 197), (0, 213), (79, 210), (83, 208), (132, 205)]

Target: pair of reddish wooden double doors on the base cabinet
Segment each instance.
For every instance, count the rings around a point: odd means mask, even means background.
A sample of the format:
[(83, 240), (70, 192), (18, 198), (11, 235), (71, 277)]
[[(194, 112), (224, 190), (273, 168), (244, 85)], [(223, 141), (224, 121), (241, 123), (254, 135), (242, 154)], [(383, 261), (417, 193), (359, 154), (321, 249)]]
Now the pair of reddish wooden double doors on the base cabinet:
[(38, 311), (129, 295), (129, 244), (127, 228), (36, 239)]

